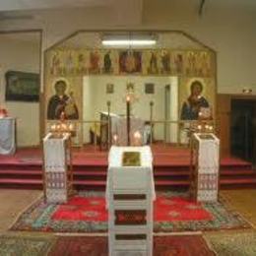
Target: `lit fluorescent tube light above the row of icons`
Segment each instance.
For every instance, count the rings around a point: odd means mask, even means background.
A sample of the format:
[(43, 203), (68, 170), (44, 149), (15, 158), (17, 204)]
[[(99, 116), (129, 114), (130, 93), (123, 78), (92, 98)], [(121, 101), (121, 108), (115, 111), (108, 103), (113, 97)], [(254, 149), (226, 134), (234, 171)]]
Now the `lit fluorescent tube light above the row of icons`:
[(102, 38), (102, 44), (107, 46), (118, 45), (154, 45), (157, 43), (156, 38), (153, 36), (145, 35), (106, 35)]

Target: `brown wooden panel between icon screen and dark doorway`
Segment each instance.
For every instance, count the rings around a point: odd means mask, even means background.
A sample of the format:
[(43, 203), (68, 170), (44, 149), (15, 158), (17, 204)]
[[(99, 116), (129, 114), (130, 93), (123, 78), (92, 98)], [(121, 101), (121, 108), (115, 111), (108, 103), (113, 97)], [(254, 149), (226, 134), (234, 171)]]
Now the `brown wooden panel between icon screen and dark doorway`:
[(230, 108), (231, 96), (217, 96), (218, 136), (221, 140), (221, 156), (230, 155)]

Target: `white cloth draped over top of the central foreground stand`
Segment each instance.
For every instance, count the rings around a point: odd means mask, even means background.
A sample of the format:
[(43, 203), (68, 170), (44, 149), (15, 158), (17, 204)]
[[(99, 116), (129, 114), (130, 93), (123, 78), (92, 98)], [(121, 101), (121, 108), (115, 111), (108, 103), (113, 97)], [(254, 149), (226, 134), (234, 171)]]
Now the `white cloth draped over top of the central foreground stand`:
[[(122, 156), (124, 152), (139, 152), (141, 154), (141, 165), (140, 166), (122, 166)], [(110, 178), (112, 178), (113, 171), (129, 171), (129, 170), (144, 170), (148, 171), (151, 178), (151, 189), (152, 190), (152, 200), (156, 200), (156, 190), (154, 182), (154, 172), (153, 172), (153, 157), (152, 151), (149, 146), (144, 147), (116, 147), (112, 146), (108, 154), (108, 171), (106, 179), (106, 208), (108, 208), (108, 198), (110, 193), (109, 183)], [(126, 179), (126, 183), (131, 183), (136, 186), (140, 183), (140, 180), (133, 179), (132, 175), (129, 179)]]

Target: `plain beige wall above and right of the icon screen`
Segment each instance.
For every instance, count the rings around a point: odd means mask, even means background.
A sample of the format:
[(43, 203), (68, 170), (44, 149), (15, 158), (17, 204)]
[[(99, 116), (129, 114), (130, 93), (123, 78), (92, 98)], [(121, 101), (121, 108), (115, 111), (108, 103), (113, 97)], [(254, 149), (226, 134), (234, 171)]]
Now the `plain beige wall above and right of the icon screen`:
[(232, 0), (207, 1), (199, 17), (198, 6), (198, 0), (146, 0), (141, 24), (126, 17), (120, 23), (109, 7), (55, 10), (41, 12), (41, 18), (35, 17), (34, 21), (2, 22), (0, 30), (42, 29), (43, 48), (78, 30), (184, 31), (217, 51), (218, 93), (240, 94), (242, 88), (249, 87), (256, 95), (255, 8), (234, 5)]

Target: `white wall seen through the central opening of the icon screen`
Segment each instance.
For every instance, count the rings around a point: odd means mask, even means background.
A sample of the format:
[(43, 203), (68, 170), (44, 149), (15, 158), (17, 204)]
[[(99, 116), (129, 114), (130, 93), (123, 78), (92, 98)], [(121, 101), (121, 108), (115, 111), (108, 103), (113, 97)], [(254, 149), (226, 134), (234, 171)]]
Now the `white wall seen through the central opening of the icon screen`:
[[(106, 84), (114, 85), (114, 93), (106, 94)], [(154, 101), (153, 119), (164, 119), (164, 87), (171, 86), (170, 118), (177, 120), (177, 78), (175, 77), (138, 77), (138, 76), (92, 76), (84, 78), (84, 119), (99, 120), (99, 112), (107, 111), (107, 100), (110, 100), (110, 111), (115, 114), (126, 114), (126, 85), (133, 83), (138, 100), (132, 103), (132, 114), (143, 120), (150, 120), (150, 101)], [(155, 94), (145, 94), (145, 84), (155, 84)], [(89, 125), (84, 126), (85, 142), (89, 140)], [(175, 140), (175, 127), (171, 127), (171, 141)], [(163, 140), (163, 125), (156, 125), (155, 139)]]

